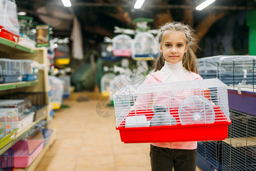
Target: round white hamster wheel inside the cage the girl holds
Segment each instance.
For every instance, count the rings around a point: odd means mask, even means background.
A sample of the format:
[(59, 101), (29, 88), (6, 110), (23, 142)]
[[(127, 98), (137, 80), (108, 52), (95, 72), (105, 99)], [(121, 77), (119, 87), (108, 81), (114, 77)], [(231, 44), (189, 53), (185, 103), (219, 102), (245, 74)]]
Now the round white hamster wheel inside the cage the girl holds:
[(182, 125), (214, 123), (215, 113), (212, 104), (203, 96), (190, 96), (178, 108)]

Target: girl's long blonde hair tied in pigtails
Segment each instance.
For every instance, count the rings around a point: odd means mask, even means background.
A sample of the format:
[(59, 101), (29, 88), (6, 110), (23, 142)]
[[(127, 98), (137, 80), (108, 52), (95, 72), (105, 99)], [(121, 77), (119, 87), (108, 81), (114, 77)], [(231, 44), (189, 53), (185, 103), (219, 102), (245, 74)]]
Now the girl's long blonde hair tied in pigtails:
[[(197, 57), (195, 55), (195, 52), (198, 48), (198, 40), (196, 39), (196, 32), (189, 25), (185, 25), (181, 22), (165, 23), (160, 27), (157, 34), (160, 47), (162, 46), (162, 41), (164, 40), (164, 36), (168, 31), (181, 31), (185, 34), (186, 44), (188, 44), (188, 50), (182, 58), (182, 64), (186, 70), (197, 73)], [(164, 62), (164, 55), (160, 53), (158, 58), (156, 59), (155, 71), (161, 70), (161, 68), (164, 66)]]

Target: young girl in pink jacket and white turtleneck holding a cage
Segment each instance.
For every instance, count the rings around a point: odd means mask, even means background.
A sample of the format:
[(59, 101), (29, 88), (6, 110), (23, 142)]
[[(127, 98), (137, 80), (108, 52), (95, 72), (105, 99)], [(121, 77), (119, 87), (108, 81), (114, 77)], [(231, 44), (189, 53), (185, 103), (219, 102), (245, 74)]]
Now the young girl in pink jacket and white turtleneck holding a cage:
[[(166, 23), (158, 33), (160, 55), (155, 72), (145, 84), (202, 79), (197, 73), (197, 39), (192, 28), (180, 22)], [(197, 142), (151, 143), (152, 171), (196, 170)]]

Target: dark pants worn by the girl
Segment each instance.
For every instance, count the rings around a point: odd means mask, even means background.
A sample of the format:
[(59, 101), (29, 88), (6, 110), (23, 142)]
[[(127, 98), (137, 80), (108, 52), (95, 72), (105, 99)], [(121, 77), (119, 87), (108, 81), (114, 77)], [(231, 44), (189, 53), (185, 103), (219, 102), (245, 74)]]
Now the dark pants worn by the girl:
[(196, 170), (197, 149), (169, 149), (151, 145), (152, 171), (193, 171)]

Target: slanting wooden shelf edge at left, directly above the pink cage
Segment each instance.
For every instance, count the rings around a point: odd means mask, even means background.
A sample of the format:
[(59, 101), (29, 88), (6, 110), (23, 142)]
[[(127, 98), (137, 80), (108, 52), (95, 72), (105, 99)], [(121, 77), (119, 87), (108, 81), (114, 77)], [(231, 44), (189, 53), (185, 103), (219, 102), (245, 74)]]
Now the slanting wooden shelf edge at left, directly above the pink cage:
[(7, 144), (6, 146), (4, 146), (3, 148), (0, 149), (0, 155), (2, 153), (4, 153), (7, 149), (9, 149), (11, 146), (13, 146), (15, 143), (17, 143), (19, 140), (21, 140), (24, 136), (27, 135), (27, 133), (29, 133), (30, 129), (37, 123), (39, 123), (39, 121), (46, 119), (46, 115), (43, 115), (42, 117), (40, 117), (38, 120), (34, 121), (33, 123), (31, 123), (29, 125), (29, 127), (23, 129), (21, 132), (19, 132), (16, 136), (15, 139), (13, 141), (11, 141), (9, 144)]

